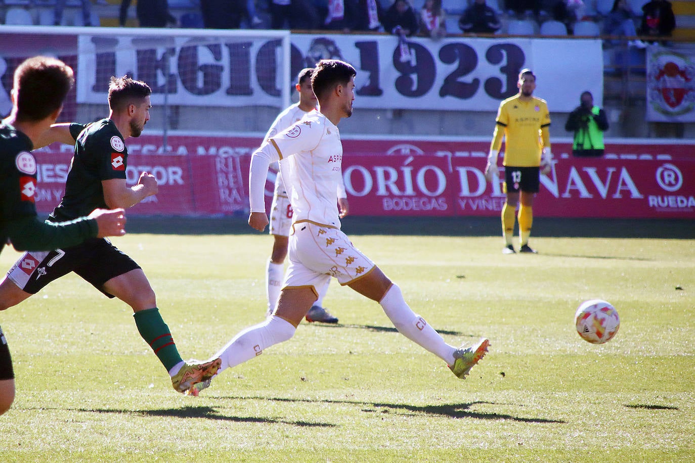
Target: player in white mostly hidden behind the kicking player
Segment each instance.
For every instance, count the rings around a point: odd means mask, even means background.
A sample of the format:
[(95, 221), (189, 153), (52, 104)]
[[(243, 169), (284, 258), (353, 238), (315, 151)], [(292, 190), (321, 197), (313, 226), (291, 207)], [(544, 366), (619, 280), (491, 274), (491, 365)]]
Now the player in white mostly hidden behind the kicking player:
[[(275, 122), (272, 123), (268, 133), (265, 134), (263, 142), (267, 142), (270, 137), (286, 130), (297, 123), (307, 113), (316, 109), (316, 96), (311, 90), (311, 73), (313, 68), (306, 67), (297, 74), (295, 88), (300, 95), (300, 101), (289, 106), (281, 112)], [(341, 175), (338, 182), (338, 209), (341, 219), (347, 215), (349, 205), (345, 184)], [(268, 311), (266, 316), (270, 316), (275, 310), (277, 298), (282, 287), (282, 277), (284, 276), (284, 262), (287, 256), (288, 237), (292, 224), (293, 210), (290, 200), (287, 197), (285, 185), (282, 182), (280, 172), (275, 177), (275, 192), (272, 195), (272, 205), (270, 206), (270, 235), (273, 236), (272, 253), (265, 265), (265, 292), (268, 295)], [(320, 321), (322, 323), (338, 323), (338, 319), (330, 314), (323, 307), (323, 298), (328, 292), (330, 280), (326, 280), (325, 285), (317, 287), (318, 299), (313, 304), (309, 312), (306, 313), (306, 321)]]

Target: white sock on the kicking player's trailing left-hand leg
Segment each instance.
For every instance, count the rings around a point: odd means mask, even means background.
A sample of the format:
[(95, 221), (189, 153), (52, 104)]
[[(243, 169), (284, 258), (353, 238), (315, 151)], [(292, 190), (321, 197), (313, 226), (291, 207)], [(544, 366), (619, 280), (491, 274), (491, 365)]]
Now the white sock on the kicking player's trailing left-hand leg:
[(295, 334), (295, 330), (297, 328), (292, 323), (280, 317), (269, 317), (263, 323), (246, 328), (213, 356), (222, 359), (218, 374), (226, 368), (236, 367), (261, 355), (270, 346), (287, 341)]

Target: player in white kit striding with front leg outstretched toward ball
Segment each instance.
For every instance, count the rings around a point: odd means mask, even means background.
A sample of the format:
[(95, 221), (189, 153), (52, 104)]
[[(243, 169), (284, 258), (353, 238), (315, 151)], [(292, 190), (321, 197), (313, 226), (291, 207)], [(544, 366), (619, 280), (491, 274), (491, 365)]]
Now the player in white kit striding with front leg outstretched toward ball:
[[(289, 239), (290, 264), (272, 317), (238, 333), (214, 355), (220, 370), (257, 357), (265, 348), (290, 339), (316, 301), (316, 288), (331, 276), (382, 306), (398, 331), (444, 360), (463, 379), (485, 355), (488, 339), (456, 348), (444, 342), (434, 328), (415, 314), (400, 288), (391, 283), (366, 255), (341, 232), (336, 183), (341, 176), (343, 146), (337, 124), (352, 115), (352, 66), (340, 60), (320, 60), (311, 86), (319, 109), (288, 130), (270, 137), (251, 158), (249, 225), (263, 231), (268, 225), (264, 187), (270, 162), (280, 161), (280, 171), (294, 210)], [(218, 371), (218, 372), (219, 372)], [(197, 395), (208, 383), (189, 389)]]

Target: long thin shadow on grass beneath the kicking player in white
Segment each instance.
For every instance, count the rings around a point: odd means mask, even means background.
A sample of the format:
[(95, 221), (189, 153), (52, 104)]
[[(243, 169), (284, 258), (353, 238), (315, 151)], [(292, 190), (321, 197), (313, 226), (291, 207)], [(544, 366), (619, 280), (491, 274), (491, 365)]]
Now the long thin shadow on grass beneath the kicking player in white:
[(473, 418), (490, 420), (512, 420), (521, 423), (565, 423), (562, 420), (546, 418), (524, 418), (523, 416), (513, 416), (503, 413), (474, 412), (469, 410), (473, 405), (497, 405), (493, 402), (471, 402), (471, 403), (448, 403), (442, 405), (408, 405), (404, 403), (384, 403), (384, 402), (358, 402), (358, 401), (319, 401), (302, 398), (279, 398), (279, 397), (224, 397), (240, 400), (259, 400), (271, 402), (304, 402), (304, 403), (336, 403), (341, 405), (357, 405), (365, 413), (392, 413), (403, 416), (418, 416), (422, 414), (432, 416), (443, 416), (445, 418)]

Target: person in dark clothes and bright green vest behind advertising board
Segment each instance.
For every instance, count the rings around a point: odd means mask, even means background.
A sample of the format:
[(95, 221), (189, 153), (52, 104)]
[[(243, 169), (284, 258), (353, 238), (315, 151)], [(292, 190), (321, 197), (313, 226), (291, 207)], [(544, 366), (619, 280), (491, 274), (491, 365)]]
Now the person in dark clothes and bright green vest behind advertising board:
[(580, 106), (570, 112), (565, 130), (574, 132), (572, 155), (582, 158), (603, 156), (603, 132), (608, 130), (604, 110), (594, 106), (591, 92), (582, 92)]

